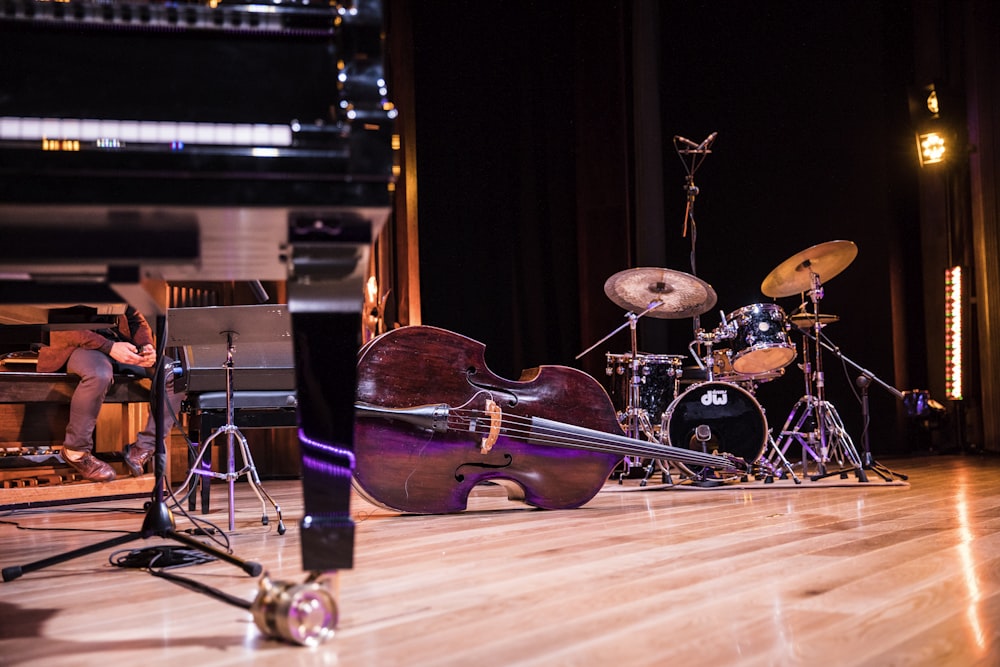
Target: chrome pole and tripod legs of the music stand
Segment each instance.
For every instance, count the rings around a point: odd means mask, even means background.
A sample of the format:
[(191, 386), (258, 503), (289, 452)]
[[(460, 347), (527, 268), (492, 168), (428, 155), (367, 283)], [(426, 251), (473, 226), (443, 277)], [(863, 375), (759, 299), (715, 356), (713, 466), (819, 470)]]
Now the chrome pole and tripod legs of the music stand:
[[(278, 503), (268, 495), (267, 491), (260, 483), (260, 477), (257, 475), (257, 467), (254, 465), (253, 456), (250, 453), (250, 446), (247, 444), (247, 439), (240, 433), (239, 428), (236, 426), (236, 407), (234, 399), (234, 388), (233, 388), (233, 368), (235, 364), (233, 363), (233, 351), (235, 349), (234, 341), (236, 337), (239, 336), (237, 331), (222, 331), (220, 332), (226, 335), (226, 362), (223, 367), (226, 370), (226, 423), (215, 429), (212, 435), (208, 436), (201, 445), (201, 449), (198, 451), (198, 456), (195, 458), (194, 462), (191, 464), (191, 470), (188, 472), (187, 479), (184, 480), (184, 484), (181, 488), (187, 488), (188, 484), (195, 475), (200, 475), (202, 477), (212, 477), (214, 479), (223, 479), (229, 484), (229, 530), (235, 530), (236, 528), (236, 480), (238, 480), (243, 475), (247, 476), (247, 480), (250, 482), (250, 488), (253, 490), (257, 499), (260, 500), (261, 506), (261, 517), (260, 522), (262, 525), (267, 525), (267, 502), (271, 504), (274, 508), (275, 514), (278, 517), (278, 534), (285, 534), (285, 523), (281, 518), (281, 507)], [(215, 440), (220, 435), (225, 434), (226, 444), (227, 444), (227, 459), (226, 459), (226, 472), (218, 473), (211, 470), (211, 466), (206, 469), (202, 465), (202, 459), (208, 448), (211, 446), (212, 441)], [(243, 459), (243, 467), (240, 470), (236, 470), (236, 442), (240, 445), (240, 456)]]

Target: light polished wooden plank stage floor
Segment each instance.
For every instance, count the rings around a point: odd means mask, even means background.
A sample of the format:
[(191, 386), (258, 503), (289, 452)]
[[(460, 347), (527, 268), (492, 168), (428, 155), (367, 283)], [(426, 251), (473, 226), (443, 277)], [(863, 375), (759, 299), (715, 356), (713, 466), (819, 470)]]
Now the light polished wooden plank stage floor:
[[(235, 604), (113, 567), (109, 550), (0, 583), (0, 664), (1000, 664), (1000, 460), (887, 463), (908, 486), (612, 483), (558, 512), (482, 487), (449, 516), (355, 498), (355, 567), (339, 576), (336, 636), (316, 648), (262, 636)], [(234, 553), (301, 581), (298, 484), (265, 483), (283, 536), (260, 524), (245, 486)], [(224, 487), (213, 500), (208, 517), (226, 528)], [(117, 534), (87, 531), (135, 530), (141, 506), (7, 513), (0, 565)], [(173, 572), (246, 601), (258, 584), (222, 562)]]

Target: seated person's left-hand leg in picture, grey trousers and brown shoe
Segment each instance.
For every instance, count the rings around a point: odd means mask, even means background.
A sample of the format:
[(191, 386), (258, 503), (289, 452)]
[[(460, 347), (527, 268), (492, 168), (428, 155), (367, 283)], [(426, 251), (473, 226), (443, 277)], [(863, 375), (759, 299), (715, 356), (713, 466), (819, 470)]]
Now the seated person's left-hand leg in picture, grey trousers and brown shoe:
[(111, 358), (98, 350), (80, 348), (70, 355), (66, 372), (78, 375), (80, 384), (70, 398), (63, 460), (85, 479), (111, 481), (115, 478), (114, 469), (93, 455), (97, 415), (114, 378)]

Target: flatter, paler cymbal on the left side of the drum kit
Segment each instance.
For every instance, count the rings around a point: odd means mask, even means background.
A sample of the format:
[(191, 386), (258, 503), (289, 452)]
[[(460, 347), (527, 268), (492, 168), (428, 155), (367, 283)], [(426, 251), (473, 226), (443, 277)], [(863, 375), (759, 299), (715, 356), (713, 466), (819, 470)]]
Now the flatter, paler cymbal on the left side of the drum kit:
[(649, 317), (681, 319), (712, 309), (718, 297), (704, 280), (671, 269), (643, 267), (619, 271), (604, 283), (604, 293), (622, 308), (641, 313), (660, 302)]

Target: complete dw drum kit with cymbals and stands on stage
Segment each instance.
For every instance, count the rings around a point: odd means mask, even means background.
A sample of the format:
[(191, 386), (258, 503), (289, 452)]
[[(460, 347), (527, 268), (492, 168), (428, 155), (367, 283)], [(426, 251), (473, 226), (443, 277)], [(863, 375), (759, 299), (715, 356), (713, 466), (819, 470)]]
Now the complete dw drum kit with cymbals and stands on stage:
[[(803, 475), (809, 474), (810, 463), (815, 470), (811, 479), (832, 474), (846, 477), (850, 469), (863, 475), (860, 456), (836, 409), (826, 400), (819, 344), (823, 327), (839, 319), (820, 312), (824, 284), (846, 269), (857, 252), (853, 242), (830, 241), (790, 257), (767, 275), (761, 291), (774, 299), (802, 295), (795, 312), (786, 315), (776, 303), (750, 304), (728, 314), (720, 311), (717, 327), (711, 331), (696, 328), (689, 355), (639, 352), (637, 322), (642, 317), (697, 318), (716, 304), (711, 285), (692, 274), (665, 268), (621, 271), (605, 282), (604, 291), (627, 311), (626, 322), (577, 358), (629, 327), (630, 351), (606, 354), (609, 393), (629, 437), (727, 453), (746, 461), (748, 473), (752, 470), (765, 481), (787, 475), (796, 484), (800, 480), (786, 452), (797, 442), (802, 446)], [(790, 339), (793, 330), (802, 334), (800, 368), (805, 395), (775, 437), (755, 393), (758, 385), (782, 377), (795, 361), (798, 349)], [(816, 344), (810, 346), (810, 341)], [(689, 356), (696, 367), (685, 367)], [(838, 464), (834, 472), (828, 472), (831, 462)], [(671, 465), (694, 483), (724, 483), (713, 470), (632, 457), (625, 458), (620, 479), (639, 472), (644, 486), (658, 469), (664, 481), (672, 483)]]

